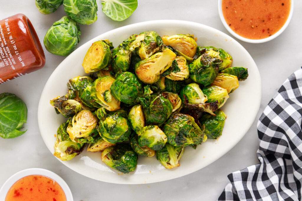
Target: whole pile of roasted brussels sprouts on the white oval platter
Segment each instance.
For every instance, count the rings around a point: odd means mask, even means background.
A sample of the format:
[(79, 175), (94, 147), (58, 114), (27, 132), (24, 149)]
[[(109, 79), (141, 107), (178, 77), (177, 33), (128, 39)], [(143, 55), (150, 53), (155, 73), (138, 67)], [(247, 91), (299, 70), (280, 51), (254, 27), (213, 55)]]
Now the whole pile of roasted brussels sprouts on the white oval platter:
[(123, 173), (135, 170), (138, 155), (179, 166), (186, 146), (221, 135), (220, 108), (248, 77), (232, 60), (189, 34), (146, 31), (116, 48), (109, 40), (94, 42), (82, 63), (90, 75), (72, 78), (67, 94), (50, 101), (68, 118), (54, 155), (70, 160), (88, 144), (87, 151), (102, 152), (102, 161)]

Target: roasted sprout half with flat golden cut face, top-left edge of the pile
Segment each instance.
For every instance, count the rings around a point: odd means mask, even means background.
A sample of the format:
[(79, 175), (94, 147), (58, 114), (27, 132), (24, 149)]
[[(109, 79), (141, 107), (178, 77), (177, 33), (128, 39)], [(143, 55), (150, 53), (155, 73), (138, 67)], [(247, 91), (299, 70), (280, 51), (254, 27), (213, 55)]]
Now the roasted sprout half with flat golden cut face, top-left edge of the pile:
[(106, 41), (99, 40), (92, 43), (92, 46), (86, 52), (82, 63), (85, 73), (93, 73), (106, 68), (110, 58), (110, 46)]

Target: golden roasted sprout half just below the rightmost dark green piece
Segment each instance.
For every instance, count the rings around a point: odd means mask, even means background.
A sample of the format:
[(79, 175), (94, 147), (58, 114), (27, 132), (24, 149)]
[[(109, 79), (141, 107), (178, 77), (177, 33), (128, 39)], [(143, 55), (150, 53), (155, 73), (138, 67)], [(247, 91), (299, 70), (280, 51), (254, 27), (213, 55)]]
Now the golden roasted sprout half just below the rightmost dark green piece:
[(214, 80), (213, 85), (226, 89), (227, 93), (232, 93), (239, 87), (239, 82), (237, 76), (235, 75), (219, 73)]

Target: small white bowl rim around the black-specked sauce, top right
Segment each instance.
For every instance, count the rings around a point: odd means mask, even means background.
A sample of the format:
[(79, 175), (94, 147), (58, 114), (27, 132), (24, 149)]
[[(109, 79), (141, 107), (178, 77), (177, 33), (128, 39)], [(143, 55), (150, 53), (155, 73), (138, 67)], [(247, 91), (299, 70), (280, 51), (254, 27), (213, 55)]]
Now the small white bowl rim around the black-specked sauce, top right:
[(291, 10), (289, 12), (288, 15), (288, 19), (286, 20), (285, 24), (283, 25), (283, 27), (281, 27), (281, 29), (279, 31), (277, 31), (276, 33), (274, 33), (273, 35), (267, 37), (267, 38), (263, 38), (263, 39), (249, 39), (249, 38), (245, 38), (240, 36), (239, 34), (237, 34), (236, 32), (234, 32), (229, 25), (226, 23), (226, 20), (224, 19), (223, 13), (222, 13), (222, 0), (218, 0), (218, 13), (219, 13), (219, 17), (220, 20), (223, 24), (223, 26), (226, 28), (226, 30), (228, 30), (234, 37), (238, 38), (239, 40), (242, 40), (244, 42), (250, 42), (250, 43), (262, 43), (262, 42), (268, 42), (274, 38), (276, 38), (277, 36), (279, 36), (288, 26), (289, 22), (291, 21), (291, 17), (293, 15), (293, 11), (294, 11), (294, 0), (291, 0)]

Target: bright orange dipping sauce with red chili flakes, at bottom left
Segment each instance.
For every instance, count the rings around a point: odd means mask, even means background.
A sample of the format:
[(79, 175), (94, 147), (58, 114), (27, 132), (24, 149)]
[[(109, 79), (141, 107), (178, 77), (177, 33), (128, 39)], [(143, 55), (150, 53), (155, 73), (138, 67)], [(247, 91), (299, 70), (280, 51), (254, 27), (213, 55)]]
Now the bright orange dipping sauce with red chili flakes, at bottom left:
[(49, 177), (29, 175), (8, 190), (5, 201), (66, 201), (62, 187)]

